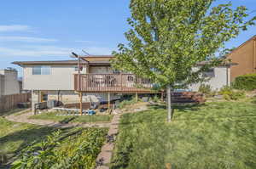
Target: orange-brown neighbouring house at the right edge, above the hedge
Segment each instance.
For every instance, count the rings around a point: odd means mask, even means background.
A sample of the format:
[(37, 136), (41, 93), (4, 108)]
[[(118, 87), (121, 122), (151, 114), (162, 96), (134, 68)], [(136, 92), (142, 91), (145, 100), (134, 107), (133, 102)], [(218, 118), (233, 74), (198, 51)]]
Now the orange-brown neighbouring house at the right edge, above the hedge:
[(227, 59), (237, 64), (231, 67), (231, 82), (236, 79), (236, 76), (256, 73), (256, 36), (235, 48), (227, 55)]

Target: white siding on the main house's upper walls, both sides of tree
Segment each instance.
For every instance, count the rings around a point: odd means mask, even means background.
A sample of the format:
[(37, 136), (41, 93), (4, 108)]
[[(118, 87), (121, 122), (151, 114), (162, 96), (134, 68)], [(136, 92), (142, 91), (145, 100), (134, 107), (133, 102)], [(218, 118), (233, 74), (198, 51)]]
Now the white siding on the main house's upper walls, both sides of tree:
[[(23, 89), (73, 91), (73, 75), (77, 73), (74, 67), (75, 65), (51, 65), (50, 75), (32, 75), (32, 65), (26, 65), (24, 66)], [(82, 73), (86, 73), (86, 69), (83, 69)], [(112, 73), (112, 70), (103, 66), (95, 66), (90, 67), (90, 73)], [(214, 73), (215, 76), (208, 82), (204, 82), (205, 84), (211, 85), (214, 90), (230, 85), (230, 67), (216, 67)], [(200, 85), (200, 83), (193, 84), (189, 90), (197, 91)]]

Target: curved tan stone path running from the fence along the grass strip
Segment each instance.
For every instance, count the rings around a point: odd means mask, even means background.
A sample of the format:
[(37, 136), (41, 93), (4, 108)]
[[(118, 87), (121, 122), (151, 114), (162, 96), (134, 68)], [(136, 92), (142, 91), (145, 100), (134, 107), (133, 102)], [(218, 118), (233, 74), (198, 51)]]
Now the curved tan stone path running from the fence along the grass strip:
[(9, 121), (26, 122), (34, 125), (47, 126), (47, 127), (110, 127), (110, 122), (95, 122), (95, 123), (72, 122), (72, 123), (62, 124), (58, 121), (29, 119), (29, 117), (32, 115), (33, 115), (32, 112), (27, 112), (27, 113), (20, 112), (20, 115), (15, 115), (15, 114), (8, 115), (8, 116), (5, 116), (5, 118)]

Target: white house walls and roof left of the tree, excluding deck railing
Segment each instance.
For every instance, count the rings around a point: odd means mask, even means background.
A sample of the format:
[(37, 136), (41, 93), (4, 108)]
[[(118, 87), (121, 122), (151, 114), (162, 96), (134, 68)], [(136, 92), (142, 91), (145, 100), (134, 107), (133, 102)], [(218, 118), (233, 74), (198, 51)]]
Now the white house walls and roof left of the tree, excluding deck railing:
[[(81, 74), (113, 73), (109, 56), (88, 57), (90, 64), (81, 63)], [(23, 89), (32, 91), (32, 105), (54, 99), (62, 104), (79, 103), (79, 93), (74, 90), (75, 75), (79, 72), (77, 60), (14, 62), (23, 67)], [(111, 93), (110, 99), (118, 99)], [(83, 93), (83, 102), (107, 101), (108, 93)]]

